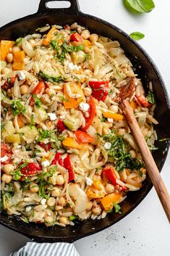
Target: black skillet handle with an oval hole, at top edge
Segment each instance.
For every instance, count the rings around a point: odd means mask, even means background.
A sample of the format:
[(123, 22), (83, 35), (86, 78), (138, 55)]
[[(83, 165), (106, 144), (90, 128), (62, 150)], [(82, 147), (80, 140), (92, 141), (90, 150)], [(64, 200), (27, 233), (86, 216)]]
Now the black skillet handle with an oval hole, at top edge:
[(79, 7), (77, 0), (64, 0), (64, 1), (68, 1), (71, 4), (69, 8), (66, 8), (66, 7), (65, 8), (62, 8), (62, 7), (61, 8), (48, 8), (47, 4), (50, 1), (61, 1), (61, 0), (41, 0), (37, 13), (41, 14), (41, 15), (45, 15), (46, 13), (52, 13), (52, 12), (57, 12), (57, 11), (60, 11), (60, 12), (64, 11), (64, 12), (71, 12), (71, 13), (80, 12), (80, 7)]

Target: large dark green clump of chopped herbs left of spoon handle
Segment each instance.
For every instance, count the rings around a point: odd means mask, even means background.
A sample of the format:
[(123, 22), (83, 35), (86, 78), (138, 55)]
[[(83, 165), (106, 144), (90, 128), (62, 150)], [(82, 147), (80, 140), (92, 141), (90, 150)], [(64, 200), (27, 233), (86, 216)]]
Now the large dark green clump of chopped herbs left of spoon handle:
[(127, 142), (122, 136), (118, 136), (114, 133), (109, 133), (103, 136), (105, 141), (111, 143), (111, 149), (109, 150), (109, 161), (114, 162), (116, 170), (122, 172), (124, 168), (129, 170), (140, 170), (143, 167), (143, 163), (132, 158), (131, 154), (127, 152)]

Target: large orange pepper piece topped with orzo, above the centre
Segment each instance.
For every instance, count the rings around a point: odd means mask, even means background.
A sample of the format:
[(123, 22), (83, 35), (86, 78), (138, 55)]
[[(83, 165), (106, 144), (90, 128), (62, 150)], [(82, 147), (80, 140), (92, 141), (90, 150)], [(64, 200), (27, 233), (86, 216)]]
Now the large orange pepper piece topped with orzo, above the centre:
[[(67, 89), (70, 88), (72, 95), (78, 94), (77, 98), (70, 98)], [(76, 109), (81, 102), (85, 102), (85, 94), (79, 83), (70, 82), (64, 84), (64, 107), (66, 109)]]

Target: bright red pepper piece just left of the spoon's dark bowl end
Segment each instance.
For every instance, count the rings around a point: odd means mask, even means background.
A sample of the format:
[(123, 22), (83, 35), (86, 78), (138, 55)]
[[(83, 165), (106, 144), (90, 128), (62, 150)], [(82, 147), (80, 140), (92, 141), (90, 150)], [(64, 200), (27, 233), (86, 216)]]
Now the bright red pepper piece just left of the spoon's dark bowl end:
[(89, 81), (88, 84), (93, 89), (93, 97), (104, 102), (109, 94), (109, 81)]

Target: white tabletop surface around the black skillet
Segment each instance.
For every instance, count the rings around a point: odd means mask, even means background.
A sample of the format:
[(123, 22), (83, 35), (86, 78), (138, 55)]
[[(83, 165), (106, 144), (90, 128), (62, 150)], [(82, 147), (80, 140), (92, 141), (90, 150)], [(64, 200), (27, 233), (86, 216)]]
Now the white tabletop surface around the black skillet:
[[(101, 17), (122, 28), (127, 33), (140, 31), (145, 38), (140, 41), (161, 71), (170, 94), (170, 1), (154, 0), (156, 8), (149, 14), (131, 15), (122, 0), (79, 0), (80, 9)], [(1, 0), (0, 26), (32, 14), (39, 0)], [(170, 191), (170, 154), (162, 170), (162, 177)], [(75, 242), (81, 256), (169, 256), (170, 229), (156, 191), (152, 189), (140, 205), (126, 218), (111, 228)], [(22, 247), (25, 236), (0, 228), (0, 256)], [(34, 255), (33, 255), (34, 256)]]

